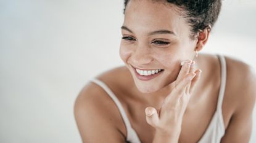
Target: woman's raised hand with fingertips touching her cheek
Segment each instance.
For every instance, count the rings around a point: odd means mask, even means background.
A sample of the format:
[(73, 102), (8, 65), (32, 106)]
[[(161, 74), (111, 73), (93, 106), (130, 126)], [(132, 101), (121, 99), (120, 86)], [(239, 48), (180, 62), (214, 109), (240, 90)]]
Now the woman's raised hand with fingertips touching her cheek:
[(194, 72), (194, 63), (191, 60), (184, 63), (175, 80), (175, 88), (167, 95), (160, 109), (145, 109), (147, 123), (160, 133), (170, 136), (180, 134), (184, 112), (201, 73), (200, 69)]

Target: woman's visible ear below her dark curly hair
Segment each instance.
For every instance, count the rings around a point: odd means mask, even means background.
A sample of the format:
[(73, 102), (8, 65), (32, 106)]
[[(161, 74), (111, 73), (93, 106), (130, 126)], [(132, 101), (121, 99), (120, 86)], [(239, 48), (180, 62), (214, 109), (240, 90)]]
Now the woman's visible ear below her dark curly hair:
[(205, 28), (204, 30), (199, 31), (199, 34), (197, 36), (197, 44), (196, 44), (197, 51), (202, 50), (202, 48), (208, 41), (210, 31), (211, 31), (210, 28)]

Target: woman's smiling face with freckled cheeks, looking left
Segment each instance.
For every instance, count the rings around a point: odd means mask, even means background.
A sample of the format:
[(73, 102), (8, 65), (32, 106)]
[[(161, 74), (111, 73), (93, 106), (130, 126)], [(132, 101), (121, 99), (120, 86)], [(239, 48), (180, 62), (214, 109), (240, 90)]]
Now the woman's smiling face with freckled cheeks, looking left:
[[(122, 26), (120, 57), (142, 93), (153, 93), (176, 80), (180, 63), (192, 58), (196, 40), (192, 41), (189, 24), (171, 4), (131, 0), (126, 6)], [(158, 32), (157, 32), (158, 31)], [(163, 69), (153, 79), (141, 80), (136, 69)], [(148, 78), (149, 75), (141, 75)], [(150, 75), (152, 77), (152, 75)]]

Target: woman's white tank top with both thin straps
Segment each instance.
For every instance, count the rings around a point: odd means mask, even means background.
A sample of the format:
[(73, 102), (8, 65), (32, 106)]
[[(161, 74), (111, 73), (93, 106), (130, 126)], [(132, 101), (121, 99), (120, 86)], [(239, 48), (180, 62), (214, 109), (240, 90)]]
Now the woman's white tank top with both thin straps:
[[(212, 120), (210, 121), (210, 124), (207, 127), (207, 130), (205, 131), (203, 136), (200, 138), (198, 143), (218, 143), (220, 142), (221, 137), (223, 137), (225, 134), (225, 125), (223, 121), (221, 107), (222, 107), (222, 102), (223, 102), (223, 97), (224, 97), (225, 87), (226, 87), (226, 60), (223, 55), (217, 55), (217, 56), (221, 64), (221, 85), (220, 85), (219, 96), (218, 96), (217, 110), (215, 111), (215, 114), (213, 115)], [(126, 126), (126, 133), (127, 133), (126, 142), (141, 143), (136, 131), (131, 126), (131, 123), (125, 113), (125, 110), (123, 109), (122, 104), (117, 99), (117, 96), (115, 96), (115, 94), (110, 90), (110, 88), (107, 87), (107, 85), (105, 85), (105, 83), (102, 82), (101, 80), (94, 78), (94, 79), (91, 79), (91, 82), (94, 82), (97, 85), (101, 86), (117, 105), (119, 112), (123, 118), (123, 122), (125, 123), (125, 126)]]

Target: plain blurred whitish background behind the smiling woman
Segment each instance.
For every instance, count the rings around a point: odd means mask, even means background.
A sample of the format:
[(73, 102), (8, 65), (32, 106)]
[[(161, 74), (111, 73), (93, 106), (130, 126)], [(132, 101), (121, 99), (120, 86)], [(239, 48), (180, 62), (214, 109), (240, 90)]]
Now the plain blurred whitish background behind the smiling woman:
[[(254, 0), (223, 1), (203, 52), (256, 68), (255, 15)], [(0, 142), (81, 142), (73, 103), (89, 79), (123, 65), (122, 23), (122, 0), (0, 0)]]

